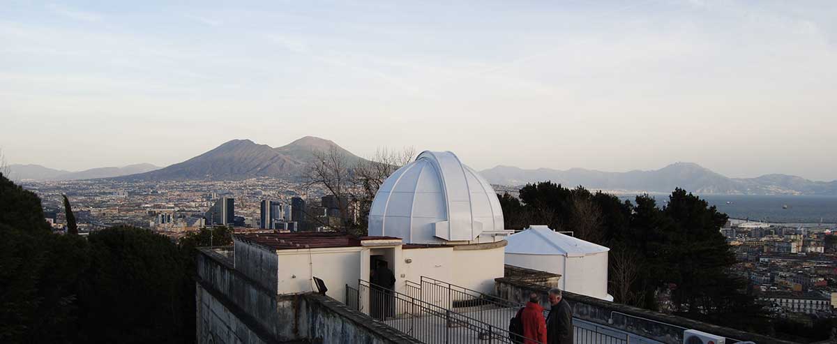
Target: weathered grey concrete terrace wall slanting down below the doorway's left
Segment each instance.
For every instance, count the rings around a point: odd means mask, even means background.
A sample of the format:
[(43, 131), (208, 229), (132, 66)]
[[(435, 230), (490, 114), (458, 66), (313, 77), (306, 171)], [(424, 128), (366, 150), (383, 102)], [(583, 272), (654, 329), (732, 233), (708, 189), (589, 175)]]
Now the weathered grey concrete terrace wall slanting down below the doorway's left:
[(325, 295), (272, 295), (211, 249), (199, 249), (195, 297), (199, 343), (418, 342)]

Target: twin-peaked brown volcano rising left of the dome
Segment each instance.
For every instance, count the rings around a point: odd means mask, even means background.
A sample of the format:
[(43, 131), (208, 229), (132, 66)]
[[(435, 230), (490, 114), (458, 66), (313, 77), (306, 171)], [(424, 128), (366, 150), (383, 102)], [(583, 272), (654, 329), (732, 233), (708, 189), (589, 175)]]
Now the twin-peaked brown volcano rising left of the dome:
[(232, 140), (198, 157), (157, 171), (123, 176), (122, 180), (239, 180), (251, 177), (300, 177), (314, 161), (316, 151), (335, 147), (350, 163), (359, 157), (336, 143), (306, 136), (280, 147), (249, 140)]

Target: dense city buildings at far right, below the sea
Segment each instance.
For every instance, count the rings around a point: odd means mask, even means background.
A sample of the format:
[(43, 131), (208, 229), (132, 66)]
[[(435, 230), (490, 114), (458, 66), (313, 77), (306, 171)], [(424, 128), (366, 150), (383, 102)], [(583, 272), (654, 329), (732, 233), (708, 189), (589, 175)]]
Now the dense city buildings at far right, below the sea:
[(732, 220), (721, 233), (736, 273), (776, 318), (814, 321), (837, 314), (837, 236), (832, 224)]

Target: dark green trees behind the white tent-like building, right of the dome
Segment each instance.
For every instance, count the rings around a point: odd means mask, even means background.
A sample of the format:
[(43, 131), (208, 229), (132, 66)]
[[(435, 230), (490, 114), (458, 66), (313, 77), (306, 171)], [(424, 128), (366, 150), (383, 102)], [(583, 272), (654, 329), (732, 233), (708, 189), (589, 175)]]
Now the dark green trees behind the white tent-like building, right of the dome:
[(662, 208), (647, 195), (632, 204), (553, 182), (526, 185), (520, 201), (508, 194), (500, 201), (507, 228), (548, 224), (610, 247), (610, 292), (623, 299), (618, 302), (660, 311), (657, 294), (670, 290), (670, 311), (677, 314), (770, 330), (761, 307), (745, 292), (746, 281), (729, 273), (735, 256), (719, 231), (727, 215), (683, 189), (675, 189)]

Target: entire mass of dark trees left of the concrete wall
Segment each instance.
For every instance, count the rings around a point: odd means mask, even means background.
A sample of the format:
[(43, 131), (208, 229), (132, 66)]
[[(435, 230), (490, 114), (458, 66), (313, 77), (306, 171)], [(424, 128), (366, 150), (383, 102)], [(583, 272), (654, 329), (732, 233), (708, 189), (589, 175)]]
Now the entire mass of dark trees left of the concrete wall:
[(34, 193), (0, 175), (0, 195), (0, 342), (194, 341), (194, 246), (131, 227), (53, 234)]

